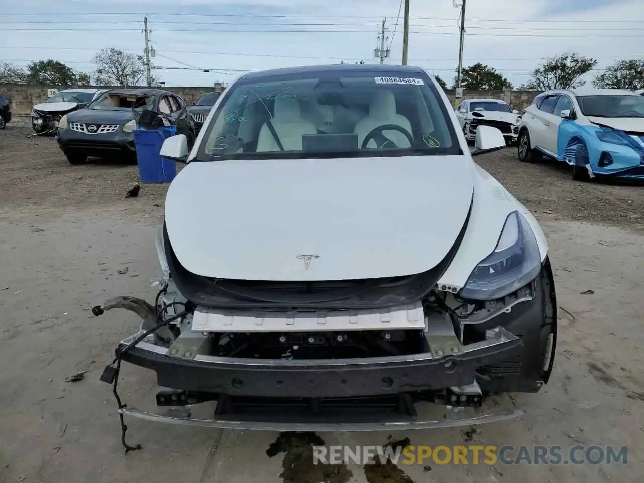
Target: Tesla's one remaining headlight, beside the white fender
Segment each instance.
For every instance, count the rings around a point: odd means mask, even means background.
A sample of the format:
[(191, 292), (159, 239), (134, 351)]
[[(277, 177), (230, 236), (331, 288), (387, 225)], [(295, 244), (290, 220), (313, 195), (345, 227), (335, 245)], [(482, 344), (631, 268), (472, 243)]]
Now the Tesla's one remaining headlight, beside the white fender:
[(475, 300), (502, 298), (535, 279), (540, 270), (535, 234), (526, 218), (514, 211), (507, 216), (494, 251), (469, 275), (460, 296)]

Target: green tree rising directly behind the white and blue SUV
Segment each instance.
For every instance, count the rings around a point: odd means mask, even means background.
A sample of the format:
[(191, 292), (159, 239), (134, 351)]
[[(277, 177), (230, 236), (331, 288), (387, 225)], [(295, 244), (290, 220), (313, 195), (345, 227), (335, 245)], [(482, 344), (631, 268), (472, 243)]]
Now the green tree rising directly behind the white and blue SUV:
[(521, 86), (527, 91), (547, 91), (551, 89), (574, 89), (586, 83), (580, 79), (597, 65), (595, 59), (582, 57), (576, 53), (563, 53), (546, 59), (533, 70), (532, 78)]

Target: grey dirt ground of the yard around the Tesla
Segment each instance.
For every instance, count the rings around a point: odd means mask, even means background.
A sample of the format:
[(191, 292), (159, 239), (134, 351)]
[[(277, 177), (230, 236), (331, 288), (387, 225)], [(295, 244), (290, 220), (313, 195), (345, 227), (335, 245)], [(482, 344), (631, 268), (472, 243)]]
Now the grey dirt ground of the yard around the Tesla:
[[(520, 418), (471, 428), (397, 431), (413, 445), (627, 446), (628, 463), (391, 468), (308, 464), (310, 444), (386, 444), (387, 433), (278, 435), (128, 421), (100, 383), (127, 312), (91, 316), (117, 294), (151, 300), (165, 185), (124, 199), (137, 167), (68, 164), (52, 138), (0, 131), (0, 482), (620, 482), (644, 474), (644, 187), (573, 182), (508, 148), (477, 158), (542, 222), (560, 307), (553, 379), (511, 395)], [(125, 269), (128, 270), (125, 270)], [(587, 292), (590, 291), (590, 292)], [(582, 293), (586, 292), (586, 293)], [(77, 383), (64, 379), (87, 371)], [(152, 408), (153, 373), (125, 365), (131, 406)]]

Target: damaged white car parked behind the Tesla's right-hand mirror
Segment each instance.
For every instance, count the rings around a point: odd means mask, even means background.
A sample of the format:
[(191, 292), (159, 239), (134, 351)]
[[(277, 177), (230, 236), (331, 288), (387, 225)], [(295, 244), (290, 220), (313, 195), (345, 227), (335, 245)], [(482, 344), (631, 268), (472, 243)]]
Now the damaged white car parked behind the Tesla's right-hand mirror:
[(508, 145), (516, 142), (521, 121), (519, 111), (500, 99), (466, 99), (456, 117), (468, 141), (476, 140), (478, 126), (491, 126), (501, 131)]

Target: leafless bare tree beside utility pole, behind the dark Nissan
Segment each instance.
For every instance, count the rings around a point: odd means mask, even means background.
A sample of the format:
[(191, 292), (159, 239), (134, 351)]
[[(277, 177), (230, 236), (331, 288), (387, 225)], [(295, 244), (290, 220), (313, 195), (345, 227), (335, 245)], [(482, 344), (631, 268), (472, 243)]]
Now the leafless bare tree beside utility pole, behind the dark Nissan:
[(92, 61), (96, 64), (96, 83), (104, 86), (137, 86), (146, 77), (143, 57), (115, 48), (104, 48)]

